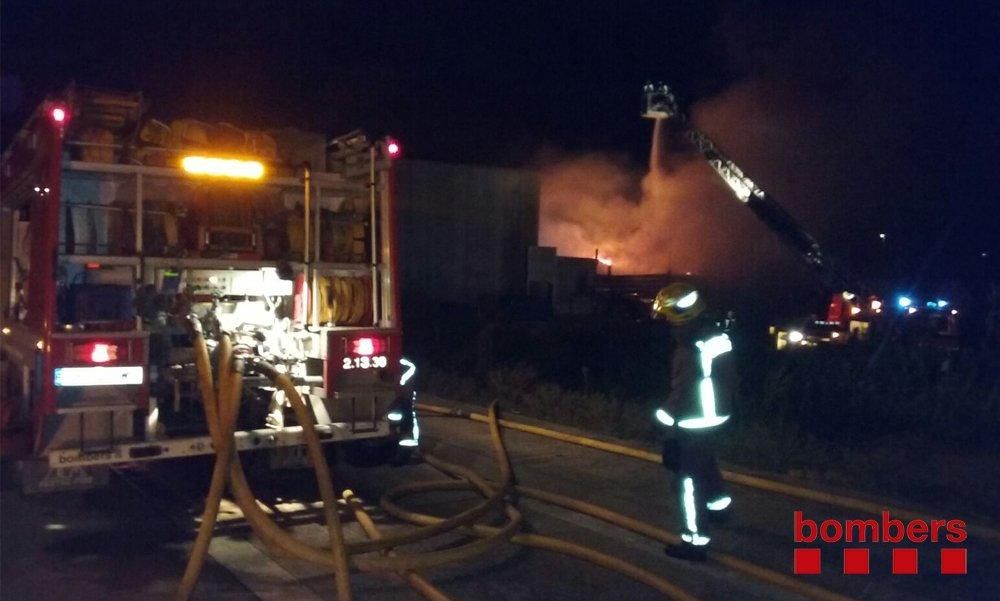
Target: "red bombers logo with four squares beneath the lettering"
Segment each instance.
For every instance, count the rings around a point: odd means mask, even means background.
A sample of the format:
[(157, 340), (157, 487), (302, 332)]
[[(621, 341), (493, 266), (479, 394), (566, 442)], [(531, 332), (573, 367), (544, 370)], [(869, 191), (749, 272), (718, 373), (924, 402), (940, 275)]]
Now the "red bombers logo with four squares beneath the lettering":
[[(963, 520), (922, 520), (909, 522), (890, 517), (883, 511), (880, 520), (816, 520), (807, 519), (801, 511), (794, 513), (793, 527), (795, 543), (889, 543), (892, 547), (892, 573), (917, 574), (919, 549), (909, 545), (925, 543), (961, 544), (966, 541), (966, 524)], [(843, 573), (868, 574), (870, 548), (848, 547), (844, 549)], [(793, 572), (795, 574), (819, 574), (821, 572), (822, 550), (819, 547), (800, 547), (794, 551)], [(940, 549), (941, 574), (968, 573), (968, 552), (965, 547), (942, 547)]]

